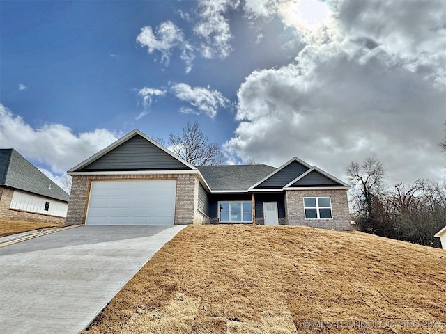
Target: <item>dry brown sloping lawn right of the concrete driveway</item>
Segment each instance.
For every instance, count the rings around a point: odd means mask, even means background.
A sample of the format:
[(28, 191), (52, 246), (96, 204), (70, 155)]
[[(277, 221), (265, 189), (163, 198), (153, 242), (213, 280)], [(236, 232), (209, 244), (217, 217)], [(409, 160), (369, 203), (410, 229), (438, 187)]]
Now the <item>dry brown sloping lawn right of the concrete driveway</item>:
[(88, 333), (445, 333), (445, 264), (360, 232), (189, 226)]

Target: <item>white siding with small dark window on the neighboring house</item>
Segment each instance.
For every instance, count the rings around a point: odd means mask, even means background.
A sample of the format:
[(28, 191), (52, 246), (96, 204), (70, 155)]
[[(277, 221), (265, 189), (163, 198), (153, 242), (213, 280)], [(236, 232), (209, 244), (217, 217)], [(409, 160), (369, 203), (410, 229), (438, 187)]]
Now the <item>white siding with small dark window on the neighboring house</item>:
[(53, 198), (45, 198), (15, 190), (13, 193), (13, 199), (11, 200), (10, 209), (35, 212), (37, 214), (49, 214), (50, 216), (66, 217), (68, 203), (54, 200)]

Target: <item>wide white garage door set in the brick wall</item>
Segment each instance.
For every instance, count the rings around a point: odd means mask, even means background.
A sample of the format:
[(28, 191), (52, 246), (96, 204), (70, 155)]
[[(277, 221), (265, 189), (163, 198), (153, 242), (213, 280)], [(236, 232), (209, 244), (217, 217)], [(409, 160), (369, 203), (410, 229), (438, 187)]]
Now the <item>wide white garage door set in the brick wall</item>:
[(176, 180), (93, 181), (87, 225), (174, 225)]

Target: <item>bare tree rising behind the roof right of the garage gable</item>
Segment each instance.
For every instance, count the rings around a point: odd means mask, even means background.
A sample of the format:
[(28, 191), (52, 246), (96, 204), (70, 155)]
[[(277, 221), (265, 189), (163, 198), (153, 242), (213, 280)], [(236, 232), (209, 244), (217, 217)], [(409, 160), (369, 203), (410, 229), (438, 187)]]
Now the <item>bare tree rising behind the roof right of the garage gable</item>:
[(209, 143), (198, 122), (187, 122), (181, 134), (170, 134), (169, 146), (178, 156), (194, 166), (219, 165), (224, 161), (220, 146)]

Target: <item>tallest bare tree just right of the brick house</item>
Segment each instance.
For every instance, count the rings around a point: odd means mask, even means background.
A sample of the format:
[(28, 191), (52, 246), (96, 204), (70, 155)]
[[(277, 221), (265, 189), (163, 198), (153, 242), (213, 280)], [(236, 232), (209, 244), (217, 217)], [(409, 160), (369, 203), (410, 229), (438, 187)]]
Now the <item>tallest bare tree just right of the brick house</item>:
[(385, 168), (380, 161), (368, 157), (362, 164), (352, 161), (346, 168), (348, 180), (353, 185), (351, 195), (357, 205), (360, 228), (374, 232), (374, 200), (383, 193)]

